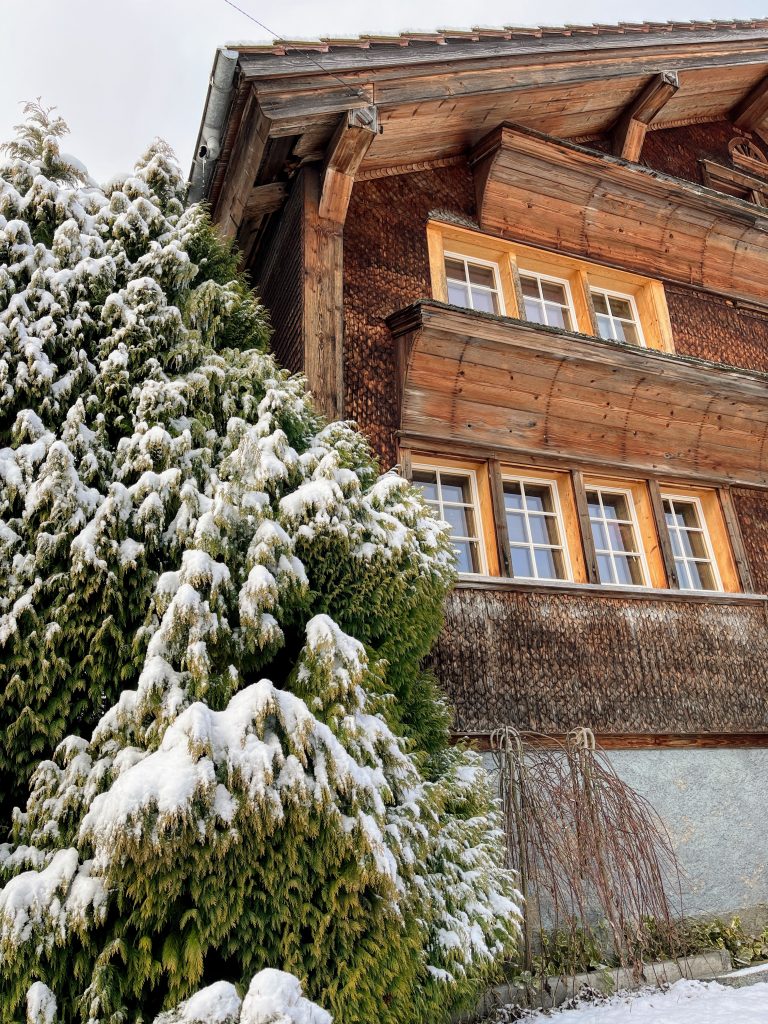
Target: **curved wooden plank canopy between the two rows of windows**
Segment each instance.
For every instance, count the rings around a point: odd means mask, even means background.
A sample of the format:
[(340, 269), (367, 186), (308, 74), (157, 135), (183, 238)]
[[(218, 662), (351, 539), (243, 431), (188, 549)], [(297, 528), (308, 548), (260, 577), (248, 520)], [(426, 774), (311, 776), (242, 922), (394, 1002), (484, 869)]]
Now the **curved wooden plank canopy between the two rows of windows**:
[(768, 486), (768, 377), (425, 301), (388, 321), (408, 438)]

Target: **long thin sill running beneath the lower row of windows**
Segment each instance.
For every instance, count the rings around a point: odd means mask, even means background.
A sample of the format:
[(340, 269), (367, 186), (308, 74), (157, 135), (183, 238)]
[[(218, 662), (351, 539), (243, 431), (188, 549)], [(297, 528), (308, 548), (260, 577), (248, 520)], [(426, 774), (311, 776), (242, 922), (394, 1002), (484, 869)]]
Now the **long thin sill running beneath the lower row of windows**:
[(735, 594), (717, 590), (667, 590), (655, 587), (616, 587), (592, 583), (570, 583), (565, 580), (511, 580), (507, 577), (488, 577), (460, 573), (459, 590), (514, 591), (528, 594), (592, 594), (595, 597), (634, 598), (640, 601), (682, 601), (696, 604), (765, 604), (766, 594)]

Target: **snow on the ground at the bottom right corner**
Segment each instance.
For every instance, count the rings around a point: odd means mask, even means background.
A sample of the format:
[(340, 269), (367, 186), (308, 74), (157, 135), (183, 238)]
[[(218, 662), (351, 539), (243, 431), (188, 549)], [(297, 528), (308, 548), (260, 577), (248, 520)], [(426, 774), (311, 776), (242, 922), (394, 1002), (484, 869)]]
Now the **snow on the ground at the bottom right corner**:
[(678, 981), (666, 992), (617, 995), (608, 1002), (555, 1014), (535, 1014), (525, 1024), (768, 1024), (768, 983), (726, 988), (717, 982)]

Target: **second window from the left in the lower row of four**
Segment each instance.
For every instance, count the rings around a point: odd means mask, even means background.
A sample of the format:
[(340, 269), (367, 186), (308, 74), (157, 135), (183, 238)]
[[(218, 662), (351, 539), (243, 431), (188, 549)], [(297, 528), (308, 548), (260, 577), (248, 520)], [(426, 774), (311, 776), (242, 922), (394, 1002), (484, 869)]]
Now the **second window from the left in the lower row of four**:
[(504, 480), (504, 512), (512, 574), (523, 580), (567, 580), (557, 487), (547, 480)]

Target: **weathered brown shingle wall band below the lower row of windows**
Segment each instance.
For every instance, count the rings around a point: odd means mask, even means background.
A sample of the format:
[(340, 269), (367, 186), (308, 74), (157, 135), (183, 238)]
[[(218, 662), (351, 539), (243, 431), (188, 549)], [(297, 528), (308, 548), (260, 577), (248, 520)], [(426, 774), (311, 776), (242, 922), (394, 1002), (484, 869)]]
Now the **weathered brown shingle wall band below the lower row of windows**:
[(768, 734), (764, 601), (460, 587), (430, 664), (457, 733)]

